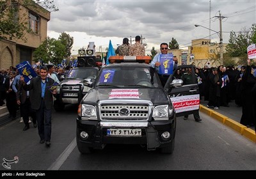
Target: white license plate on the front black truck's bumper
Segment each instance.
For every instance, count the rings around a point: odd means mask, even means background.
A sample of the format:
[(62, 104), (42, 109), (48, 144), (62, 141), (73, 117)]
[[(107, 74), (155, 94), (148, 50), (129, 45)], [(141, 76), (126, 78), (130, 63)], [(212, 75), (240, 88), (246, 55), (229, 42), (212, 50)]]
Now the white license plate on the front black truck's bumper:
[(141, 128), (108, 128), (108, 136), (141, 137)]

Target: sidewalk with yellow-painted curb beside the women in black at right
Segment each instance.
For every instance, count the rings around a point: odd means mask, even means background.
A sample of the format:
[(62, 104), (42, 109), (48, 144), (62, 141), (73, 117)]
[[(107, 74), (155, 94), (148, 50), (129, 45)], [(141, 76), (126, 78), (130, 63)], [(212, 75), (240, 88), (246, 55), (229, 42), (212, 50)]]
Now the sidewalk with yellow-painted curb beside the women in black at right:
[(230, 107), (221, 106), (219, 109), (210, 109), (207, 107), (207, 103), (208, 101), (204, 101), (204, 97), (200, 100), (200, 112), (208, 114), (256, 143), (255, 127), (241, 125), (242, 107), (237, 107), (234, 100), (228, 104)]

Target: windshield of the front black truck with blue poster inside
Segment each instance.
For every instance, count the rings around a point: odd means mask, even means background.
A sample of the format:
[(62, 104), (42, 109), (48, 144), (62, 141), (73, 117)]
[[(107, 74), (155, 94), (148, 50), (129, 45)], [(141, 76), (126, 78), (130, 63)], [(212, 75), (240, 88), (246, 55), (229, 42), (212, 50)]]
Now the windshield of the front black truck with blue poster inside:
[(141, 86), (154, 88), (158, 87), (156, 76), (154, 84), (151, 82), (150, 70), (143, 67), (115, 67), (102, 69), (96, 86)]

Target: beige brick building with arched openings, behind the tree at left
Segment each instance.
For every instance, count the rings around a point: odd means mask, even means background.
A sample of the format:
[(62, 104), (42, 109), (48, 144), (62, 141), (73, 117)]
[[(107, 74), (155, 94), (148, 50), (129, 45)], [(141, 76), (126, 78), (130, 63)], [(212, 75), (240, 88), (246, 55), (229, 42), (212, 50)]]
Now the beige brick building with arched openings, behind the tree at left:
[(28, 20), (31, 33), (25, 33), (27, 42), (17, 39), (0, 40), (0, 68), (16, 66), (23, 61), (33, 64), (33, 51), (47, 38), (47, 22), (51, 12), (35, 4), (29, 8), (19, 5), (17, 14)]

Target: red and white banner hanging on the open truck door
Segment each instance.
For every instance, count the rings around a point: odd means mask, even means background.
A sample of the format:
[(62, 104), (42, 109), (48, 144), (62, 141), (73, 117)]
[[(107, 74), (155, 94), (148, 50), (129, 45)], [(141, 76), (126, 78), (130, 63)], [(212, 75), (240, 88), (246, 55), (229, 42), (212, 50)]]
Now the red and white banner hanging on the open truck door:
[(171, 98), (176, 113), (193, 111), (199, 109), (200, 97), (198, 95), (187, 95)]

